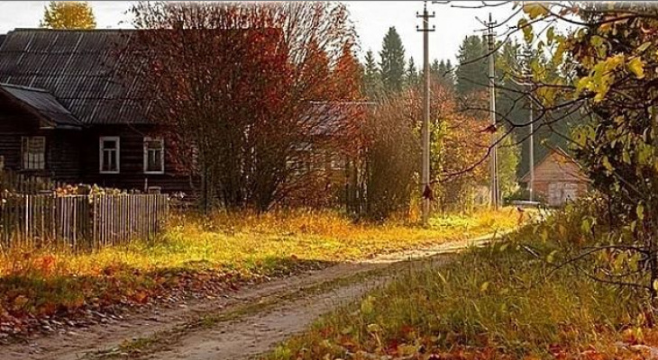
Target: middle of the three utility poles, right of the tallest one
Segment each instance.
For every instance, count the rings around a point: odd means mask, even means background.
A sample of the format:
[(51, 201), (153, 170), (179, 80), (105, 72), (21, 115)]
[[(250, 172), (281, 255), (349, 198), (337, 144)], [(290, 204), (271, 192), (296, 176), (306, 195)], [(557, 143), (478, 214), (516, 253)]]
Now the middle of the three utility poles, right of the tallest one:
[(494, 37), (493, 27), (496, 23), (489, 13), (489, 23), (487, 23), (487, 38), (489, 42), (489, 112), (491, 116), (491, 144), (490, 144), (490, 171), (491, 171), (491, 205), (498, 210), (500, 192), (498, 186), (498, 133), (496, 131), (496, 64), (495, 49), (496, 39)]

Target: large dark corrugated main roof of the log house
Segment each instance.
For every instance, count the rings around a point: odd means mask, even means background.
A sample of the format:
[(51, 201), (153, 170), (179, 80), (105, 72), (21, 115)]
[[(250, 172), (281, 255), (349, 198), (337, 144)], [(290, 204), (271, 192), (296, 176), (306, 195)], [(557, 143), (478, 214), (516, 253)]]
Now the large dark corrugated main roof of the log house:
[[(144, 123), (137, 81), (126, 79), (120, 49), (130, 30), (16, 29), (0, 45), (0, 83), (45, 89), (84, 124)], [(33, 93), (33, 92), (32, 92)], [(47, 94), (48, 94), (47, 93)], [(33, 94), (32, 94), (33, 95)], [(45, 101), (42, 95), (41, 100)], [(40, 101), (41, 101), (40, 100)], [(48, 100), (50, 101), (50, 99)]]

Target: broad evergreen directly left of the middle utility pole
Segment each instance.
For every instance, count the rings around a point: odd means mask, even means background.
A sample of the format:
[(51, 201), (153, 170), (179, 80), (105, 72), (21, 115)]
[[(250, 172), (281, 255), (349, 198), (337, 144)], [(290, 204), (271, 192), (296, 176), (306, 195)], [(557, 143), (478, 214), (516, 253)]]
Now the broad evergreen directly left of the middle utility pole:
[(455, 71), (455, 87), (458, 94), (466, 95), (473, 91), (486, 90), (489, 82), (489, 66), (486, 57), (487, 40), (477, 35), (467, 36), (460, 46)]

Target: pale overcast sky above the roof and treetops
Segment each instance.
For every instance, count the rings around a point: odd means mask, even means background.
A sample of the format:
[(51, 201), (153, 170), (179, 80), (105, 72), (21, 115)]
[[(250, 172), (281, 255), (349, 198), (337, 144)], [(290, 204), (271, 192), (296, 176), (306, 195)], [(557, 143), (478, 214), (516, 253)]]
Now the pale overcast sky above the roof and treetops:
[[(407, 58), (413, 56), (420, 64), (423, 56), (422, 33), (416, 31), (421, 25), (416, 12), (423, 11), (422, 1), (347, 1), (352, 14), (352, 21), (357, 27), (361, 39), (361, 49), (365, 53), (372, 49), (375, 53), (381, 49), (381, 40), (388, 28), (395, 26), (402, 38)], [(494, 2), (495, 3), (495, 2)], [(43, 16), (46, 1), (0, 1), (0, 33), (14, 28), (38, 27)], [(125, 14), (131, 2), (128, 1), (91, 1), (96, 14), (98, 28), (130, 27), (130, 17)], [(481, 2), (459, 2), (452, 4), (477, 5)], [(430, 58), (451, 58), (459, 49), (463, 38), (481, 29), (476, 20), (486, 19), (489, 12), (494, 20), (502, 21), (511, 14), (511, 4), (487, 9), (462, 9), (450, 4), (430, 4), (429, 10), (436, 17), (431, 24), (436, 31), (430, 33)]]

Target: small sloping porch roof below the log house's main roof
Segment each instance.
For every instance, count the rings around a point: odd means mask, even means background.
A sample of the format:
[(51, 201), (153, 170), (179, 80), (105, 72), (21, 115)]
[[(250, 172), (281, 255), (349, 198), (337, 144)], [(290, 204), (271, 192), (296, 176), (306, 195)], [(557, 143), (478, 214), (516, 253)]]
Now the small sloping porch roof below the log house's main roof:
[(55, 99), (55, 96), (47, 90), (36, 89), (19, 85), (0, 84), (0, 88), (5, 94), (9, 94), (15, 100), (30, 106), (34, 111), (39, 112), (45, 119), (54, 123), (55, 126), (74, 126), (82, 125), (69, 109), (62, 106)]

